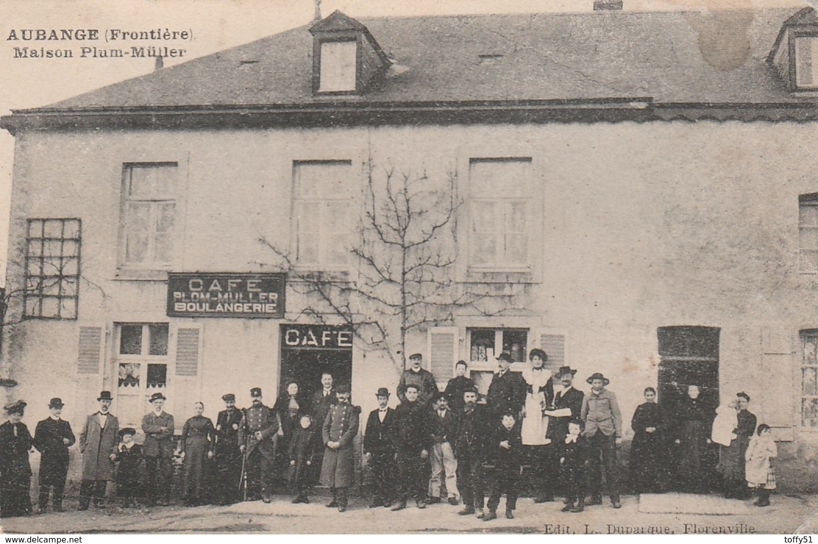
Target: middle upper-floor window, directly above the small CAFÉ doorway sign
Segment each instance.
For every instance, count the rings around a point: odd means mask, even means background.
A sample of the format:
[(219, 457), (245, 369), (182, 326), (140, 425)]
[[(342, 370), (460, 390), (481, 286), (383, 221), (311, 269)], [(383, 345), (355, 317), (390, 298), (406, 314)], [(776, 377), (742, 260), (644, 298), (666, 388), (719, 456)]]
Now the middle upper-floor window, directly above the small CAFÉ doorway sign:
[(295, 254), (299, 265), (332, 268), (349, 262), (355, 178), (350, 160), (294, 164)]

